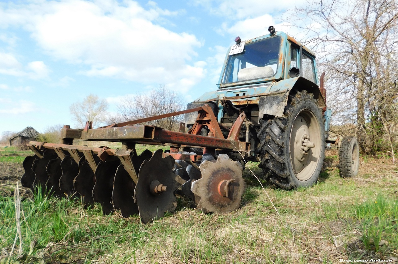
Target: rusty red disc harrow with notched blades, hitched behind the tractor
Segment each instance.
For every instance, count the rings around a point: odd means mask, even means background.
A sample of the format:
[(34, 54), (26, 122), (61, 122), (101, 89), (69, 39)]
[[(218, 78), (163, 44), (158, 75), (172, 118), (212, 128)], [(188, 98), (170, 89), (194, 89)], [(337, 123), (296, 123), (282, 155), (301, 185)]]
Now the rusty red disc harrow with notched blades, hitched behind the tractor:
[[(225, 139), (213, 113), (207, 107), (196, 109), (198, 110), (201, 111), (201, 123), (193, 127), (192, 131), (200, 132), (200, 128), (206, 126), (217, 137), (134, 124), (123, 124), (120, 127), (116, 124), (100, 129), (92, 129), (88, 124), (83, 130), (64, 127), (61, 131), (64, 144), (29, 143), (28, 146), (35, 155), (25, 158), (25, 174), (21, 182), (33, 192), (37, 192), (41, 186), (45, 194), (59, 198), (78, 198), (85, 208), (99, 203), (103, 214), (116, 210), (120, 210), (122, 217), (139, 214), (143, 223), (163, 217), (165, 212), (174, 212), (178, 203), (176, 196), (187, 196), (192, 200), (192, 207), (205, 212), (234, 210), (239, 206), (244, 188), (240, 180), (242, 177), (239, 176), (242, 168), (235, 166), (226, 154), (219, 154), (216, 162), (215, 149), (217, 146), (227, 150), (238, 147), (238, 150), (247, 152), (249, 144), (236, 138), (239, 126), (230, 129), (233, 136)], [(128, 137), (128, 140), (122, 141), (123, 149), (69, 145), (71, 139), (84, 137), (94, 141), (118, 141), (123, 137)], [(137, 155), (135, 143), (173, 143), (176, 146), (171, 146), (170, 151), (165, 153), (158, 149), (154, 153), (145, 150)], [(188, 143), (195, 144), (187, 145)], [(219, 199), (207, 199), (209, 190), (203, 193), (194, 189), (194, 186), (201, 186), (201, 182), (206, 182), (211, 177), (224, 180), (216, 175), (219, 166), (228, 167), (222, 173), (229, 175), (229, 178), (223, 176), (229, 180), (227, 189), (231, 189), (227, 190), (229, 193), (226, 199), (233, 200), (233, 205), (224, 206), (224, 209), (220, 209), (218, 204), (213, 207), (205, 205), (205, 201), (211, 203)], [(235, 180), (233, 184), (232, 178)], [(198, 184), (195, 185), (196, 182)], [(212, 191), (210, 195), (213, 193)]]

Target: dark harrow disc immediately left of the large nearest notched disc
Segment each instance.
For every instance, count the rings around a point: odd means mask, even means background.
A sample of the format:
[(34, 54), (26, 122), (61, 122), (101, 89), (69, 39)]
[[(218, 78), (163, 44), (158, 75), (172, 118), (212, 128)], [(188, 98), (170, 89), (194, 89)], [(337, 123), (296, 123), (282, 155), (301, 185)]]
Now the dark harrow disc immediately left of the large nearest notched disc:
[(112, 202), (115, 209), (120, 209), (123, 217), (138, 215), (138, 205), (134, 202), (135, 183), (123, 165), (119, 165), (113, 180)]

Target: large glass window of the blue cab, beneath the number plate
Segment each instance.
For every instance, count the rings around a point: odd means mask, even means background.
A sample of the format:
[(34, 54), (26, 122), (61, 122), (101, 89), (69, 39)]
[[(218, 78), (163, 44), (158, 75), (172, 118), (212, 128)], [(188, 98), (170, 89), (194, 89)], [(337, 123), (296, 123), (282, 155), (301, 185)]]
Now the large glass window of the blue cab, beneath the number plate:
[(242, 53), (230, 55), (222, 83), (241, 82), (272, 77), (278, 68), (279, 36), (248, 43)]

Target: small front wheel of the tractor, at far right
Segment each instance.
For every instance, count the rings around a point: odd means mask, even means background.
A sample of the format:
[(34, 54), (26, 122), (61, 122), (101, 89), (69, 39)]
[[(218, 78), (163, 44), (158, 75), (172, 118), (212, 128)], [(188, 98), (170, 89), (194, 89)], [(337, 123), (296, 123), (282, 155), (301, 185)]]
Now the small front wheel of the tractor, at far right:
[(339, 148), (340, 177), (356, 176), (359, 169), (359, 147), (354, 136), (343, 137)]

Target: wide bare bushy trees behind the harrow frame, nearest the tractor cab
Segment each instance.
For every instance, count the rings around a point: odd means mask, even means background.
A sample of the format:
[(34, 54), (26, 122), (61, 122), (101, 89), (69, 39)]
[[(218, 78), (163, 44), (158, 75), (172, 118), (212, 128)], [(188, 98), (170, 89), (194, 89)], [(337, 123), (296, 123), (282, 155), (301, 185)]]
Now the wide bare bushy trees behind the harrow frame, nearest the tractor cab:
[[(152, 117), (181, 111), (184, 108), (183, 97), (168, 89), (165, 85), (150, 91), (149, 94), (125, 96), (117, 105), (117, 115), (110, 117), (108, 123), (119, 123), (144, 117)], [(147, 122), (163, 129), (176, 130), (182, 116), (171, 116)]]

